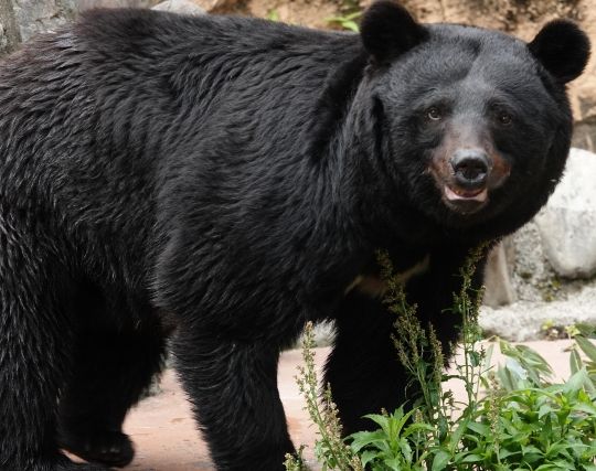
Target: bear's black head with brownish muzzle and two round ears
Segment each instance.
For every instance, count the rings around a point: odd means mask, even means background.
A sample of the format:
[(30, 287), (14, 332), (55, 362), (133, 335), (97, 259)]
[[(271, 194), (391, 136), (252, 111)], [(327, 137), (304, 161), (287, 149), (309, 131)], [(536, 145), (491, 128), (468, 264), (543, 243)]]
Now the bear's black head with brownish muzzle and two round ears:
[(456, 24), (417, 23), (380, 1), (361, 39), (382, 158), (408, 204), (453, 228), (509, 232), (546, 202), (564, 169), (572, 114), (565, 84), (589, 56), (572, 22), (530, 43)]

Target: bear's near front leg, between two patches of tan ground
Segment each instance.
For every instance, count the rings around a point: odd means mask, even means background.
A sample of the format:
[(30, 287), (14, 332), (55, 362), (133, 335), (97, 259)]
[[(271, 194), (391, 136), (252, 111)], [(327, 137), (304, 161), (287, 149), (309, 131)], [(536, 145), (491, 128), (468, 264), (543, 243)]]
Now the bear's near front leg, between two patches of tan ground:
[(279, 350), (180, 325), (173, 352), (217, 470), (283, 470), (294, 446), (277, 390)]

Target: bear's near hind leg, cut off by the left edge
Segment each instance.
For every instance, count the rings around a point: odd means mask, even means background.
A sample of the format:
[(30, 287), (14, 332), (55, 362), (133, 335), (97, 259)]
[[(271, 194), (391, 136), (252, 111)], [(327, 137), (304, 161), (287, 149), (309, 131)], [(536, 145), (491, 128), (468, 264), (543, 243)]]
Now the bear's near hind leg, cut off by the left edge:
[(46, 234), (0, 213), (0, 470), (100, 470), (73, 463), (55, 441), (72, 360), (72, 281)]

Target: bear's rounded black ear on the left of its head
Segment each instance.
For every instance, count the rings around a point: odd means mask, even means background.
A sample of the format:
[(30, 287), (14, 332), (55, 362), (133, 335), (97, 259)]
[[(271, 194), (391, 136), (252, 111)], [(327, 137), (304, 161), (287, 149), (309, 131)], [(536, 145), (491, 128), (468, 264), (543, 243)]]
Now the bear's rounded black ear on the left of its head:
[(380, 0), (364, 12), (360, 35), (369, 54), (376, 62), (386, 62), (423, 42), (427, 31), (403, 7)]

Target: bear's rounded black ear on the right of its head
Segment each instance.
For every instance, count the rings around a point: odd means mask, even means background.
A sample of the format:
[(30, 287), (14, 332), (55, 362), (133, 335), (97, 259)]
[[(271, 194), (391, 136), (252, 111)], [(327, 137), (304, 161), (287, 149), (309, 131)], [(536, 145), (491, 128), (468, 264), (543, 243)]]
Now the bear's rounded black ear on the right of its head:
[(577, 78), (589, 58), (589, 39), (575, 23), (546, 23), (530, 44), (530, 52), (558, 82)]

